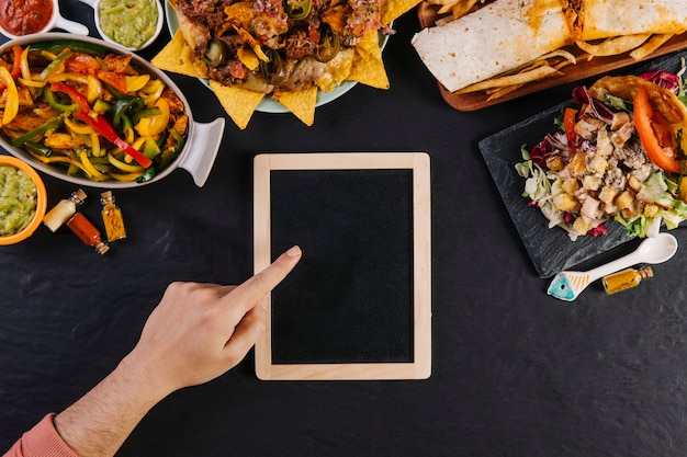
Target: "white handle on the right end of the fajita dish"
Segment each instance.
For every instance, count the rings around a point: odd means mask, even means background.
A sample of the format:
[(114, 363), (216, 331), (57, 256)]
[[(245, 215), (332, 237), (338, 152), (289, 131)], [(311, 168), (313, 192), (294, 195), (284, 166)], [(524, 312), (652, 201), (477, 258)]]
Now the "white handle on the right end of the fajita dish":
[(195, 123), (193, 130), (187, 138), (189, 150), (178, 163), (184, 169), (199, 187), (207, 181), (212, 165), (217, 157), (222, 136), (224, 135), (224, 117), (218, 117), (209, 124)]

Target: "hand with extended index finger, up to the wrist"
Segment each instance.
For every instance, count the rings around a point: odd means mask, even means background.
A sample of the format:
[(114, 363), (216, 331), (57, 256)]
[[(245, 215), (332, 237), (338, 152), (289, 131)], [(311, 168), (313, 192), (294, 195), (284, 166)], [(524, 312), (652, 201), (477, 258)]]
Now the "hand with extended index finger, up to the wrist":
[(300, 259), (294, 247), (239, 286), (170, 284), (121, 368), (159, 398), (224, 374), (264, 331), (267, 295)]

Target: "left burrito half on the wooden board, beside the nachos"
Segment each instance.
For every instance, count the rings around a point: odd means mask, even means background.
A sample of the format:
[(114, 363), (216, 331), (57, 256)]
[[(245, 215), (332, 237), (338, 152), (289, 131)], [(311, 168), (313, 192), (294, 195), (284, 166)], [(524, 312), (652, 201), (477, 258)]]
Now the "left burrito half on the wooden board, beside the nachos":
[(561, 0), (496, 0), (412, 39), (428, 70), (451, 92), (571, 43)]

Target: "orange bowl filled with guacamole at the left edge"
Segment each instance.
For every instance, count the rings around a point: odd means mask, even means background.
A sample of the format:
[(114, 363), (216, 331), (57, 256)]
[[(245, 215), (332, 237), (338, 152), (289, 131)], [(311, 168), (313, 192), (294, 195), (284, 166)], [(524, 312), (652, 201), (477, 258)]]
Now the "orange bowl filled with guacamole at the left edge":
[(0, 245), (29, 238), (47, 205), (43, 180), (26, 162), (0, 156)]

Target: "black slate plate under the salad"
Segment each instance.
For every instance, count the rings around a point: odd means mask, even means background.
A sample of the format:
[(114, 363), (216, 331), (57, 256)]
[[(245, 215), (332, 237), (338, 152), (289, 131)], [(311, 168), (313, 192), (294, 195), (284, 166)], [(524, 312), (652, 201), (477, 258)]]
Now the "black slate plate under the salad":
[[(637, 75), (652, 69), (677, 71), (680, 68), (680, 58), (686, 56), (687, 53), (677, 53), (652, 60), (634, 70), (624, 71), (622, 75)], [(563, 106), (571, 103), (572, 101), (553, 106), (484, 138), (478, 145), (518, 235), (534, 264), (537, 273), (543, 278), (551, 277), (560, 271), (570, 270), (595, 255), (631, 240), (620, 224), (608, 222), (606, 236), (579, 237), (576, 241), (571, 241), (563, 229), (549, 229), (549, 221), (539, 208), (528, 206), (528, 198), (522, 197), (525, 180), (520, 178), (514, 167), (522, 160), (520, 146), (525, 144), (530, 148), (547, 134), (555, 132), (553, 118), (561, 113)]]

